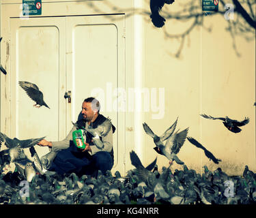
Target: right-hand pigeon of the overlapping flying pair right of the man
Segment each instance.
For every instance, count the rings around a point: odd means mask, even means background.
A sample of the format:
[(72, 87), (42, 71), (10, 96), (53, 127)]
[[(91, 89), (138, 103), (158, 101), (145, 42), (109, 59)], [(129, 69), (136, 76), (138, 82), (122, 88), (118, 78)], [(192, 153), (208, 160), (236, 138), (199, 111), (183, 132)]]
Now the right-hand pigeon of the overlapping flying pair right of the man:
[(167, 142), (165, 143), (165, 146), (163, 146), (162, 144), (158, 147), (158, 151), (160, 152), (160, 154), (165, 155), (165, 157), (167, 157), (167, 159), (169, 159), (170, 165), (173, 163), (173, 161), (175, 161), (176, 163), (182, 165), (184, 164), (183, 161), (181, 161), (178, 157), (177, 157), (177, 153), (179, 153), (181, 147), (183, 146), (185, 140), (186, 140), (186, 135), (188, 134), (188, 128), (182, 130), (179, 132), (179, 130), (177, 130), (175, 132), (175, 134), (172, 134), (168, 139)]

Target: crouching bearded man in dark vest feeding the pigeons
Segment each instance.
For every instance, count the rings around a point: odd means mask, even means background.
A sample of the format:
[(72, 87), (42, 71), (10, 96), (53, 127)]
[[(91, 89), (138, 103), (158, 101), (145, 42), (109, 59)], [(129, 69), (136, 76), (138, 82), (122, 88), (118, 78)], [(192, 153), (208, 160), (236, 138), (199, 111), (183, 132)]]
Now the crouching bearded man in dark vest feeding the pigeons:
[[(88, 97), (82, 104), (81, 116), (83, 119), (79, 119), (76, 125), (79, 127), (96, 128), (98, 125), (107, 122), (100, 112), (100, 102), (94, 97)], [(79, 116), (79, 117), (81, 117)], [(93, 136), (86, 133), (86, 147), (81, 150), (77, 148), (72, 142), (72, 132), (76, 130), (76, 127), (72, 127), (68, 136), (59, 142), (48, 142), (47, 140), (41, 140), (38, 145), (48, 146), (52, 151), (57, 152), (50, 171), (56, 171), (59, 174), (69, 174), (75, 172), (81, 176), (83, 174), (91, 174), (97, 176), (98, 170), (101, 170), (104, 174), (106, 170), (111, 170), (113, 167), (113, 133), (115, 127), (112, 125), (109, 133), (102, 137), (103, 149), (98, 149), (92, 142)]]

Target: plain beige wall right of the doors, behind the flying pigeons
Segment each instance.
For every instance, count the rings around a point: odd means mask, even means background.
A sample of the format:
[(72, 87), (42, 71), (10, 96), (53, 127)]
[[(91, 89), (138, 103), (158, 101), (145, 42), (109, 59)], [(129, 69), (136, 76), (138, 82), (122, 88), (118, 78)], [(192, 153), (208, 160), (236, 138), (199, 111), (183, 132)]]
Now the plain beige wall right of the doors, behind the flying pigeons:
[[(145, 10), (149, 10), (147, 5)], [(255, 170), (255, 40), (246, 42), (237, 36), (238, 57), (225, 31), (227, 21), (223, 16), (207, 16), (204, 22), (212, 32), (195, 28), (189, 46), (187, 41), (184, 44), (182, 59), (169, 55), (177, 49), (177, 41), (145, 22), (145, 87), (165, 87), (165, 117), (154, 120), (148, 112), (145, 121), (162, 134), (179, 116), (176, 128), (189, 127), (188, 136), (222, 159), (219, 164), (209, 161), (201, 149), (186, 140), (179, 157), (189, 168), (200, 172), (207, 165), (211, 170), (221, 167), (228, 174), (242, 174), (245, 165)], [(167, 20), (165, 28), (172, 34), (182, 29), (172, 20)], [(233, 134), (221, 121), (203, 119), (201, 113), (240, 121), (248, 116), (250, 123), (239, 134)], [(153, 146), (146, 136), (145, 159), (156, 157), (153, 151), (147, 152)], [(168, 160), (159, 157), (158, 165), (168, 166)]]

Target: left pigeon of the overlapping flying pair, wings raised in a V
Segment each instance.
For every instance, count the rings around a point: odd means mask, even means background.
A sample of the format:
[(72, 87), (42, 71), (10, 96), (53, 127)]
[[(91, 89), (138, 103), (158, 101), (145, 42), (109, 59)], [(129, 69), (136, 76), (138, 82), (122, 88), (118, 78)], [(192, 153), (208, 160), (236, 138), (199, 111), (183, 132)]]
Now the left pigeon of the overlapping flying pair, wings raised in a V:
[(163, 141), (167, 140), (174, 132), (175, 128), (177, 125), (177, 119), (176, 121), (173, 123), (173, 125), (171, 125), (171, 127), (169, 127), (161, 136), (157, 136), (156, 134), (154, 134), (154, 132), (152, 131), (152, 129), (150, 129), (150, 127), (147, 125), (147, 123), (143, 123), (143, 129), (145, 130), (145, 133), (149, 136), (151, 136), (154, 139), (154, 143), (156, 144), (156, 146), (164, 146)]

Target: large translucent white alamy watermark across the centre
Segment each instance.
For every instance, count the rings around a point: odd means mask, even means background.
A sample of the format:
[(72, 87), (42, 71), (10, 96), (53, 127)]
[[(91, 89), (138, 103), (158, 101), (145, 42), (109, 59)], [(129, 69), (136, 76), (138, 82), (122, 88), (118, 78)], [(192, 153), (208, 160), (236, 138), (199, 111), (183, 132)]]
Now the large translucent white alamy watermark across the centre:
[[(99, 100), (101, 112), (153, 112), (152, 119), (165, 116), (165, 88), (113, 89), (113, 84), (106, 82), (105, 90), (94, 88), (91, 96)], [(91, 102), (91, 108), (98, 109), (98, 106)]]

